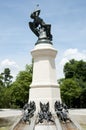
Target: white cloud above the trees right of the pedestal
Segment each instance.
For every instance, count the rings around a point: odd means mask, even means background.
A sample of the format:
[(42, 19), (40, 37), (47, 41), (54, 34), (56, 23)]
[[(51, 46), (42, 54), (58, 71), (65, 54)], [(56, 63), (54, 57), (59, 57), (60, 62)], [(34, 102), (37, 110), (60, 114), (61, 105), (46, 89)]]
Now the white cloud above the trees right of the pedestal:
[(79, 51), (77, 48), (67, 49), (63, 52), (63, 55), (60, 59), (61, 60), (59, 64), (57, 65), (57, 72), (58, 72), (57, 78), (58, 79), (64, 77), (63, 68), (64, 68), (65, 63), (67, 63), (69, 60), (75, 59), (77, 61), (79, 60), (86, 61), (86, 50)]

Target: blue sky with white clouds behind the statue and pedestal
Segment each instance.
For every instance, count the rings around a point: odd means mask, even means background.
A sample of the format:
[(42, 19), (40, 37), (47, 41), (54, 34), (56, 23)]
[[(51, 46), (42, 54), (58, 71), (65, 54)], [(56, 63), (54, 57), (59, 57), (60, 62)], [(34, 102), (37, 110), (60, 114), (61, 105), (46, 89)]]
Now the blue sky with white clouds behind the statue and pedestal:
[(0, 73), (10, 68), (15, 77), (31, 64), (37, 37), (28, 26), (39, 4), (40, 17), (51, 24), (57, 79), (71, 59), (86, 61), (86, 0), (0, 0)]

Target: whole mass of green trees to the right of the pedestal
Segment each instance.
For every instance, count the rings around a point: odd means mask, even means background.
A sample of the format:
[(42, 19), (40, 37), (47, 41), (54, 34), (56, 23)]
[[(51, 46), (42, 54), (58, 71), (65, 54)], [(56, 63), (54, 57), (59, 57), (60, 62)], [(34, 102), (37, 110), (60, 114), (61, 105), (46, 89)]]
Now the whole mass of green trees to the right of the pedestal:
[(70, 60), (64, 66), (64, 75), (59, 80), (62, 100), (69, 107), (86, 107), (86, 62)]

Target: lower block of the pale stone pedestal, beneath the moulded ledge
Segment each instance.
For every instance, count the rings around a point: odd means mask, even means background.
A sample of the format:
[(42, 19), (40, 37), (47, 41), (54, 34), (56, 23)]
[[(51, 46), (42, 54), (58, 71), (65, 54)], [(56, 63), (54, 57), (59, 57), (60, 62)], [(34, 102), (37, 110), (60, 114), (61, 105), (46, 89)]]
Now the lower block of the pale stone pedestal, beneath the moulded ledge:
[(54, 111), (54, 104), (56, 101), (61, 102), (59, 87), (40, 87), (30, 89), (29, 101), (34, 101), (36, 104), (36, 111), (40, 110), (40, 102), (49, 102), (49, 110)]

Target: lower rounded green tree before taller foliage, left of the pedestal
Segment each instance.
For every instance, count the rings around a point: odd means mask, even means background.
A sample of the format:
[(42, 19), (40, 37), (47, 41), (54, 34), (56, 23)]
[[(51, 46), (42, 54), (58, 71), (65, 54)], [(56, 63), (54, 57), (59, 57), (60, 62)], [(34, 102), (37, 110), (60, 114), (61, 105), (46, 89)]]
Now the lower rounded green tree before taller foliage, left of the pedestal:
[(27, 95), (29, 92), (29, 86), (28, 90), (26, 90), (21, 83), (14, 82), (10, 91), (11, 91), (11, 108), (22, 108), (28, 99)]

